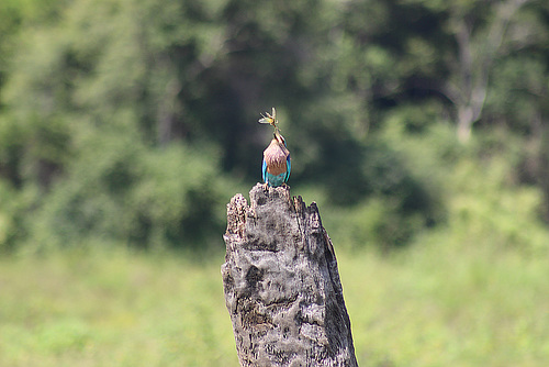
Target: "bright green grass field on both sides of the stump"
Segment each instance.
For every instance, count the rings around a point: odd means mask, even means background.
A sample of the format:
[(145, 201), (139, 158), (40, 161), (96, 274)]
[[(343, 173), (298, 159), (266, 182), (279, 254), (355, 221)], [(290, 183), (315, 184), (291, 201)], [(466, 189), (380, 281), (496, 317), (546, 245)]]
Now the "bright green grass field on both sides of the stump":
[[(547, 366), (549, 258), (337, 251), (361, 366)], [(337, 243), (335, 243), (337, 246)], [(81, 249), (0, 259), (0, 366), (238, 366), (220, 266)]]

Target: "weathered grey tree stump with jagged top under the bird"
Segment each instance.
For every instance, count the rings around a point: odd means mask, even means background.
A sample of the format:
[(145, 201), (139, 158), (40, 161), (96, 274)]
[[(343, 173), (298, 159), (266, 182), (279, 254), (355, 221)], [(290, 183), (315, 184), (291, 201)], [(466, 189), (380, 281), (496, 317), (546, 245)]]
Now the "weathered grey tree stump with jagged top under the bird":
[(318, 208), (288, 186), (227, 204), (222, 266), (240, 366), (358, 366), (332, 242)]

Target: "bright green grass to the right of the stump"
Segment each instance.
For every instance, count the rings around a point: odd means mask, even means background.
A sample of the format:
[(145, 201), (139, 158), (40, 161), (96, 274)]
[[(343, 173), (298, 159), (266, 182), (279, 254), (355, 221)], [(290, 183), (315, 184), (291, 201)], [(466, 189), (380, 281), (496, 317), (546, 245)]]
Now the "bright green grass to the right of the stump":
[(549, 364), (546, 257), (429, 244), (346, 257), (340, 273), (362, 365)]

